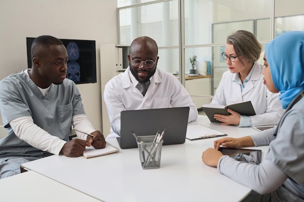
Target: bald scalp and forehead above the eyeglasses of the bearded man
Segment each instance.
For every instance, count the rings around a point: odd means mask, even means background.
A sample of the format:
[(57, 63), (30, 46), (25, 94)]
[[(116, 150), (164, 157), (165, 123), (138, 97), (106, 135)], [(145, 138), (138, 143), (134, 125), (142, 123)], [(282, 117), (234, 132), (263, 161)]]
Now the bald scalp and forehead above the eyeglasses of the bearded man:
[(158, 47), (156, 42), (148, 36), (140, 36), (133, 40), (130, 46), (130, 55), (135, 52), (149, 52), (152, 54), (151, 57), (155, 58), (158, 54)]

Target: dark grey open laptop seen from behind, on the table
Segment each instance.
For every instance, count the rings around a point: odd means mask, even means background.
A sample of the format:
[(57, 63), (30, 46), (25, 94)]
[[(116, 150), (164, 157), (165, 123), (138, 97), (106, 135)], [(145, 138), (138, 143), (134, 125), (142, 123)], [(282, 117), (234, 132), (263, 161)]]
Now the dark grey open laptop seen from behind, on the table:
[(120, 148), (137, 147), (132, 131), (137, 136), (147, 136), (166, 129), (163, 145), (182, 144), (186, 140), (188, 116), (189, 107), (121, 111), (117, 138)]

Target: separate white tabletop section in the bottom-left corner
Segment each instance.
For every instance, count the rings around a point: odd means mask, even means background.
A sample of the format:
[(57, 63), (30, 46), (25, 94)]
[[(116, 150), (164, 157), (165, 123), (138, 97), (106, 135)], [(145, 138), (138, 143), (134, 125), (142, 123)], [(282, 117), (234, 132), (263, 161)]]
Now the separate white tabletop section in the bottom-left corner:
[(1, 202), (101, 202), (35, 171), (0, 180)]

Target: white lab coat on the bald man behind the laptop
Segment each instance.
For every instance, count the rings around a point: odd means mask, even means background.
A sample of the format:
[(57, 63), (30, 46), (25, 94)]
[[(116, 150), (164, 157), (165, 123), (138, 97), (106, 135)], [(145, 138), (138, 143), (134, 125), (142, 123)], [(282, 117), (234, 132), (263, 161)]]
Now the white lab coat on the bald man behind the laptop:
[(189, 107), (188, 122), (197, 119), (197, 107), (174, 75), (157, 68), (150, 81), (147, 93), (143, 96), (136, 88), (138, 81), (128, 67), (105, 85), (103, 99), (109, 113), (111, 134), (120, 134), (120, 112), (123, 110)]

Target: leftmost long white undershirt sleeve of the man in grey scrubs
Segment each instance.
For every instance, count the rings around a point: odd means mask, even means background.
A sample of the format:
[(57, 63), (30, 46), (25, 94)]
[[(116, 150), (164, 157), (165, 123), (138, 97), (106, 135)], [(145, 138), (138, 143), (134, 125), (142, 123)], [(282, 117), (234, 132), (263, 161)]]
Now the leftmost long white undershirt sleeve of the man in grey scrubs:
[(59, 155), (63, 145), (67, 143), (67, 141), (49, 134), (34, 124), (30, 116), (14, 119), (10, 122), (10, 125), (18, 138), (51, 154)]

